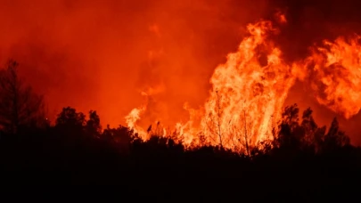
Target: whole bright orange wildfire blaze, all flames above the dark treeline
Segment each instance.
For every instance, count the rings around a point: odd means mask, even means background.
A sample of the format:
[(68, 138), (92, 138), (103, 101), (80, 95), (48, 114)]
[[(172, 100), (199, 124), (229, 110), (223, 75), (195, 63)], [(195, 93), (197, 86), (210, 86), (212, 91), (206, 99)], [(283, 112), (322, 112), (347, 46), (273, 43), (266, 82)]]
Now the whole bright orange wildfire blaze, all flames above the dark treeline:
[[(281, 13), (280, 21), (287, 20)], [(248, 149), (265, 140), (272, 140), (277, 131), (283, 104), (296, 79), (312, 79), (319, 92), (316, 99), (345, 118), (361, 108), (361, 50), (359, 37), (324, 41), (304, 61), (289, 65), (270, 35), (277, 29), (271, 21), (260, 20), (248, 25), (237, 52), (229, 53), (225, 64), (219, 65), (210, 78), (212, 89), (203, 108), (194, 110), (185, 104), (190, 118), (176, 124), (176, 134), (185, 144), (204, 142), (234, 150)], [(308, 74), (311, 71), (311, 74)], [(143, 134), (136, 126), (146, 104), (132, 110), (127, 125)]]

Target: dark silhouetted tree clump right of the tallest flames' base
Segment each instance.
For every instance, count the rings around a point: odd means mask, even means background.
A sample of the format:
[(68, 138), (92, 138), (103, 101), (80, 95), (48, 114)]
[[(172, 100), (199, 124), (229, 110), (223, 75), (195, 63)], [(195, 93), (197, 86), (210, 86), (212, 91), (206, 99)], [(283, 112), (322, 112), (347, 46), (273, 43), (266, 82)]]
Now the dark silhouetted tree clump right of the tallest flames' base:
[(286, 150), (312, 153), (335, 151), (350, 144), (349, 136), (340, 131), (337, 118), (333, 118), (326, 134), (326, 126), (318, 127), (312, 117), (312, 110), (308, 108), (303, 112), (299, 124), (299, 108), (296, 104), (284, 109), (280, 133), (275, 142)]

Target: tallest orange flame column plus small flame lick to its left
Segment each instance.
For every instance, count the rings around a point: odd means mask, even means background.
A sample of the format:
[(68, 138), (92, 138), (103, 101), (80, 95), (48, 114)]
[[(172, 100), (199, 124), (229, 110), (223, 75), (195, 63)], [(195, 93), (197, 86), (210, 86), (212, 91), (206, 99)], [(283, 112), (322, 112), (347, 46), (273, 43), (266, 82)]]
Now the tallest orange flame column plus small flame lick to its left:
[[(276, 31), (272, 23), (259, 21), (250, 24), (248, 30), (250, 37), (242, 40), (238, 52), (228, 54), (226, 63), (215, 69), (210, 79), (213, 89), (204, 109), (192, 110), (185, 105), (191, 119), (176, 125), (185, 143), (199, 144), (203, 137), (211, 144), (242, 149), (272, 138), (295, 77), (281, 59), (281, 51), (267, 41), (267, 35)], [(129, 127), (139, 128), (135, 122), (142, 110), (144, 106), (127, 116)]]

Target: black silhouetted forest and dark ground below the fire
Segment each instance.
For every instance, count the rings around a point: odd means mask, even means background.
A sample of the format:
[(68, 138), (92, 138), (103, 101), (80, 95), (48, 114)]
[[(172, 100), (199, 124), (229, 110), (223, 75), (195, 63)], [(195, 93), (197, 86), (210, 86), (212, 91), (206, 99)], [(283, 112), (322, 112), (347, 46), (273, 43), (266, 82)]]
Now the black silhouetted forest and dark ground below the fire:
[(274, 139), (245, 152), (185, 146), (127, 126), (101, 126), (96, 110), (60, 110), (45, 102), (9, 61), (0, 72), (0, 163), (3, 186), (112, 185), (120, 199), (154, 201), (318, 201), (357, 198), (361, 148), (334, 118), (317, 126), (312, 110), (285, 107)]

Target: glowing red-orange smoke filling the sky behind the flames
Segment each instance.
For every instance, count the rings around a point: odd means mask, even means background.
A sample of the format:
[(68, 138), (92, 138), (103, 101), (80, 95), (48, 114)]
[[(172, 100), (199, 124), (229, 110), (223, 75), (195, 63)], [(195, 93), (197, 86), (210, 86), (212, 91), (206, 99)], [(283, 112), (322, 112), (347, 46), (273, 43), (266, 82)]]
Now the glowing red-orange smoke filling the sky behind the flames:
[[(324, 38), (359, 32), (360, 3), (237, 0), (3, 0), (0, 61), (21, 64), (21, 75), (44, 93), (54, 118), (64, 106), (97, 110), (103, 125), (124, 117), (150, 95), (144, 126), (173, 125), (209, 96), (209, 78), (242, 41), (245, 25), (286, 13), (275, 38), (287, 61), (303, 59)], [(318, 105), (296, 84), (287, 103)], [(324, 123), (326, 118), (319, 117)], [(331, 121), (331, 118), (330, 118)]]

